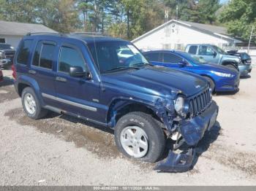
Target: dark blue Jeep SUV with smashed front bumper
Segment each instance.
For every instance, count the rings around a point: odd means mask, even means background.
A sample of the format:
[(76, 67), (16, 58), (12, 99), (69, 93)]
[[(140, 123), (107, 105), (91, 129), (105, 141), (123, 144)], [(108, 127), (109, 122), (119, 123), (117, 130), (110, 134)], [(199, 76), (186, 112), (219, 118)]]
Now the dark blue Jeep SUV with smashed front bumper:
[[(127, 59), (119, 50), (129, 49)], [(115, 132), (127, 157), (154, 163), (170, 151), (159, 171), (187, 171), (195, 146), (217, 120), (218, 106), (203, 77), (151, 66), (130, 42), (84, 34), (29, 34), (15, 54), (15, 90), (32, 119), (48, 110), (97, 123)], [(171, 161), (175, 161), (170, 164)]]

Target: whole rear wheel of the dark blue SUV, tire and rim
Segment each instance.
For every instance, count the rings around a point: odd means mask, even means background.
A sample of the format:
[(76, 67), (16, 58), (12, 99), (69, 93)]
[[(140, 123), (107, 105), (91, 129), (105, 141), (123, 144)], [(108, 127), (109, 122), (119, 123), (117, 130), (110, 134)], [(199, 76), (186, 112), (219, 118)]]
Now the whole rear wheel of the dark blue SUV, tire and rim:
[(26, 87), (22, 91), (21, 101), (27, 116), (33, 120), (38, 120), (48, 114), (48, 110), (42, 108), (37, 95), (31, 87)]

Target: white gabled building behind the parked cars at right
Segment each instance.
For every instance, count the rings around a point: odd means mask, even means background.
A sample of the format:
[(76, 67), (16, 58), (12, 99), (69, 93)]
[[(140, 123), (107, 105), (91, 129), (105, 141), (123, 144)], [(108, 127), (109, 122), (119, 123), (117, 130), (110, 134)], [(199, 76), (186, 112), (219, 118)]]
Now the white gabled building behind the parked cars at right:
[(187, 44), (215, 44), (223, 47), (234, 46), (241, 40), (228, 36), (224, 27), (170, 20), (132, 42), (140, 50), (183, 50)]

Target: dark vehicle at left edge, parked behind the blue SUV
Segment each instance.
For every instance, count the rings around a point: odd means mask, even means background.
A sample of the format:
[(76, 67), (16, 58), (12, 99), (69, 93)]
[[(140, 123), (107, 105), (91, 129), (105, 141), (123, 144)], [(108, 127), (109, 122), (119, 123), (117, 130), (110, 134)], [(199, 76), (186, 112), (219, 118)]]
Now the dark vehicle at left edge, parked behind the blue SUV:
[(0, 43), (0, 68), (10, 67), (12, 65), (14, 55), (14, 47), (10, 44)]

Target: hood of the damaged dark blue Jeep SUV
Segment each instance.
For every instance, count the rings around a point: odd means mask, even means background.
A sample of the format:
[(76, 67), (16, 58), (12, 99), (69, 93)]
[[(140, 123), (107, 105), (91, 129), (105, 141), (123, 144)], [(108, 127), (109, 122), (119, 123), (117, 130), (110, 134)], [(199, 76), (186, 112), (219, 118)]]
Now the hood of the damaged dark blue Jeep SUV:
[(208, 86), (206, 80), (196, 74), (161, 66), (105, 74), (102, 82), (125, 90), (160, 96), (182, 93), (189, 97)]

